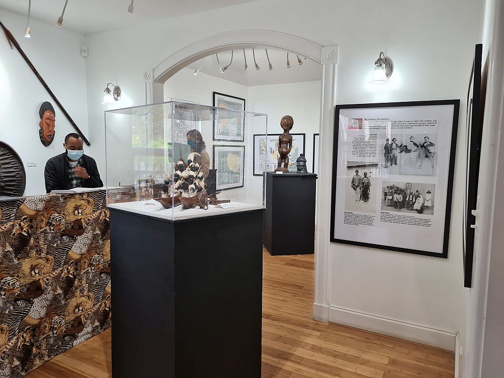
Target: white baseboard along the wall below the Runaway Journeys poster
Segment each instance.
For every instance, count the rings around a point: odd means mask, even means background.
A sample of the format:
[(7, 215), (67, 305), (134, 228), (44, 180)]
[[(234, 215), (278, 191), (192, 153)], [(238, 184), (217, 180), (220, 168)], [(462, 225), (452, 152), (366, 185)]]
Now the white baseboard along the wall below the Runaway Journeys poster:
[[(315, 319), (315, 305), (313, 318)], [(405, 323), (341, 307), (329, 307), (329, 322), (455, 351), (456, 332)]]

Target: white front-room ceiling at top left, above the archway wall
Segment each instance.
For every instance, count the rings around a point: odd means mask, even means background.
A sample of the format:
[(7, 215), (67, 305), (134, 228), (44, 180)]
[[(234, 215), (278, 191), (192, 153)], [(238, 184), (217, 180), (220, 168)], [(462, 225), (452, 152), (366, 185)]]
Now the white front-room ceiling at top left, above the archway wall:
[[(130, 14), (131, 0), (69, 0), (63, 26), (79, 33), (94, 33), (252, 1), (255, 0), (134, 0), (135, 10)], [(32, 0), (31, 17), (54, 24), (64, 4), (65, 0)], [(27, 15), (28, 0), (1, 0), (0, 8)]]

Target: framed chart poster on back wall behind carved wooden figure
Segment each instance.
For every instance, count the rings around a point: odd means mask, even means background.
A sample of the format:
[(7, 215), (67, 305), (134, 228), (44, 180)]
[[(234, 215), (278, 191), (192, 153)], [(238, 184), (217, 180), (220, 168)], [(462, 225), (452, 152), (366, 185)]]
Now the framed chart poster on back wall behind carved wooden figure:
[[(254, 135), (254, 176), (262, 176), (264, 171), (274, 171), (278, 166), (278, 137), (281, 134)], [(304, 154), (305, 134), (290, 134), (292, 149), (289, 153), (289, 172), (296, 172), (296, 159)]]

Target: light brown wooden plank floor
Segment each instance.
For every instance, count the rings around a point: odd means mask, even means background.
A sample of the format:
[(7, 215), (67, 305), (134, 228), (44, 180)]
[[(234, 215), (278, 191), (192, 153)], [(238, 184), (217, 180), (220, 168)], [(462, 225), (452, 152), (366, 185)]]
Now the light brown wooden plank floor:
[[(313, 287), (313, 255), (264, 253), (262, 378), (454, 377), (452, 352), (313, 321)], [(102, 332), (27, 377), (110, 377), (110, 335)]]

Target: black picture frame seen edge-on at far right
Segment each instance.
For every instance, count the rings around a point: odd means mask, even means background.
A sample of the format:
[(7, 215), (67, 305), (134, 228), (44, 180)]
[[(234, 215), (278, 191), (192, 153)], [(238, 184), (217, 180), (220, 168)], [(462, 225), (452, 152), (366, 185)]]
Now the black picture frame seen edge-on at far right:
[[(482, 87), (482, 77), (486, 77), (487, 65), (482, 73), (483, 45), (476, 44), (474, 59), (467, 89), (466, 111), (466, 187), (464, 200), (464, 220), (462, 226), (462, 249), (464, 256), (464, 287), (472, 286), (474, 262), (475, 223), (472, 210), (476, 209), (478, 197), (478, 177), (483, 132), (483, 113), (486, 85)], [(485, 80), (486, 83), (486, 80)]]

